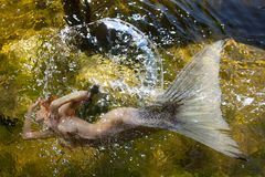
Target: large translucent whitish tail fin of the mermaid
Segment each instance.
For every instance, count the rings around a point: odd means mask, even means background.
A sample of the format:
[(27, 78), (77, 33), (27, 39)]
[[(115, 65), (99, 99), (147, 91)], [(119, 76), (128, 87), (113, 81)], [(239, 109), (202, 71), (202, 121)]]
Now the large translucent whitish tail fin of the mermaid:
[[(180, 72), (172, 85), (157, 98), (162, 107), (173, 105), (171, 131), (191, 137), (227, 156), (241, 158), (237, 144), (222, 118), (219, 85), (223, 41), (206, 46)], [(172, 106), (171, 106), (172, 107)], [(172, 126), (172, 124), (174, 124)]]

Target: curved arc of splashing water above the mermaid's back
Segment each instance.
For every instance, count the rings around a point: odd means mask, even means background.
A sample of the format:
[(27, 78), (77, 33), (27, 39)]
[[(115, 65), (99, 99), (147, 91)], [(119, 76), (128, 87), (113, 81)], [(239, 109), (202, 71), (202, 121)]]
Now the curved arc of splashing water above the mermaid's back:
[[(156, 45), (137, 28), (119, 19), (102, 19), (93, 23), (67, 27), (60, 33), (63, 43), (82, 51), (103, 53), (116, 64), (131, 69), (140, 81), (131, 87), (124, 80), (109, 82), (113, 88), (144, 97), (153, 88), (162, 88), (162, 61)], [(97, 83), (103, 85), (103, 83)]]

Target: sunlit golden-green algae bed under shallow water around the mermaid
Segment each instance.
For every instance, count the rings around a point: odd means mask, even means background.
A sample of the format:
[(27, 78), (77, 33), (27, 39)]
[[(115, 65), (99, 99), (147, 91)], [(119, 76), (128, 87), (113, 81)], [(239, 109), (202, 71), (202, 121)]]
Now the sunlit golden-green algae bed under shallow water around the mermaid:
[[(60, 1), (53, 1), (49, 7), (24, 0), (3, 2), (8, 8), (3, 8), (0, 14), (6, 19), (0, 25), (0, 113), (17, 117), (20, 122), (14, 127), (0, 125), (1, 176), (265, 175), (265, 52), (233, 40), (227, 42), (222, 54), (222, 111), (234, 139), (248, 155), (248, 162), (225, 157), (168, 131), (98, 148), (67, 149), (55, 139), (23, 140), (20, 135), (23, 115), (36, 97), (64, 95), (99, 83), (112, 96), (107, 111), (138, 104), (137, 97), (129, 93), (113, 90), (110, 81), (123, 76), (130, 86), (139, 86), (139, 81), (131, 69), (115, 64), (106, 56), (87, 56), (57, 43), (59, 39), (52, 34), (64, 24)], [(14, 19), (18, 7), (23, 8), (20, 8), (21, 15)], [(51, 13), (54, 11), (56, 13)], [(15, 30), (11, 30), (8, 22), (14, 23), (12, 29)], [(197, 43), (160, 49), (165, 60), (166, 87), (204, 45)], [(49, 77), (45, 71), (50, 72)], [(98, 110), (86, 115), (92, 112)]]

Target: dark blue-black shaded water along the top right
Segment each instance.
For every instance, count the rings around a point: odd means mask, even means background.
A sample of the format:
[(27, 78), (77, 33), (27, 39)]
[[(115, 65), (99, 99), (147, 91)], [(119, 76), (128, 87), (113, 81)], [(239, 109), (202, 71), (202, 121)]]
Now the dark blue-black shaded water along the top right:
[(233, 38), (265, 48), (264, 0), (64, 0), (70, 25), (100, 18), (120, 18), (159, 45), (188, 44), (205, 39)]

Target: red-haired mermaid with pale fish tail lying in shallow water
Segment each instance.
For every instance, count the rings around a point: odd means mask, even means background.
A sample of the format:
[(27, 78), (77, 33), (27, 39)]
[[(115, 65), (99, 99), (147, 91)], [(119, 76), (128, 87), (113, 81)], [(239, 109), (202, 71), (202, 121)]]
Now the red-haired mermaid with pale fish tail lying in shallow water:
[[(223, 41), (218, 41), (195, 56), (179, 73), (173, 83), (156, 101), (145, 107), (118, 107), (92, 124), (76, 116), (76, 108), (93, 98), (97, 86), (63, 97), (39, 98), (29, 107), (23, 126), (24, 139), (56, 137), (62, 145), (112, 137), (136, 127), (169, 129), (198, 140), (224, 155), (242, 158), (230, 127), (222, 118), (219, 83), (220, 55)], [(32, 114), (45, 129), (34, 132)]]

